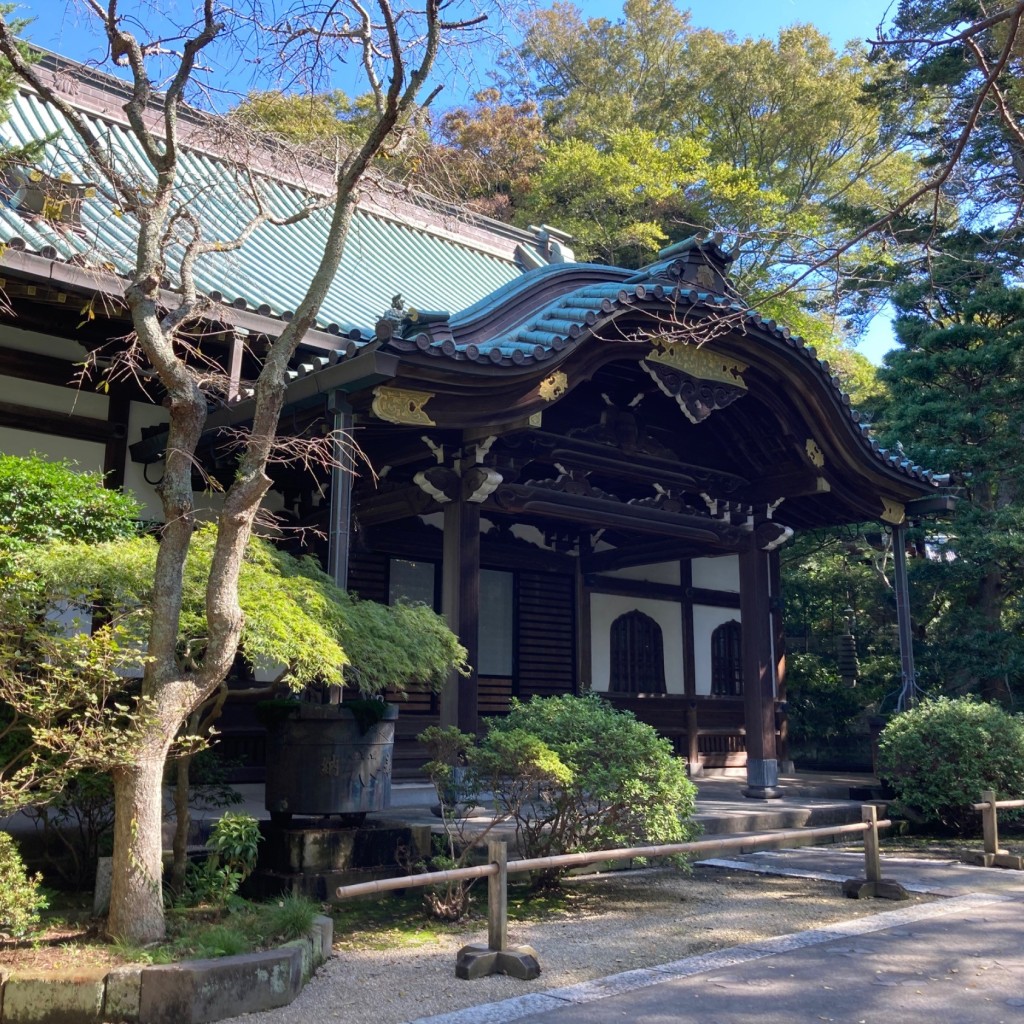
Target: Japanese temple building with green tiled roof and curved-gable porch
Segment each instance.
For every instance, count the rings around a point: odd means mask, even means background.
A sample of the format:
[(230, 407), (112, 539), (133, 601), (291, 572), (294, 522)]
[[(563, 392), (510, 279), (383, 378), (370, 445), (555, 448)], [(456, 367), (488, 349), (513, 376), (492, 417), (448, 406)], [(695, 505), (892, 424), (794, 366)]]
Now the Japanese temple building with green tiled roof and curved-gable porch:
[[(44, 72), (129, 165), (124, 85), (48, 56)], [(244, 207), (208, 118), (187, 126), (196, 209), (211, 233)], [(0, 451), (99, 469), (159, 517), (166, 416), (142, 378), (97, 390), (130, 333), (122, 218), (58, 114), (20, 93), (8, 138), (53, 136), (8, 172), (0, 207)], [(330, 174), (249, 155), (283, 209)], [(324, 214), (327, 216), (327, 213)], [(213, 254), (205, 358), (229, 376), (202, 446), (232, 471), (224, 432), (309, 276), (323, 222), (264, 225)], [(473, 671), (400, 718), (399, 772), (424, 726), (480, 728), (511, 697), (593, 690), (669, 737), (691, 768), (745, 766), (776, 794), (785, 760), (779, 550), (802, 529), (897, 530), (941, 509), (946, 481), (883, 451), (814, 350), (743, 302), (716, 240), (640, 270), (575, 262), (546, 225), (520, 230), (377, 182), (321, 321), (296, 353), (282, 430), (349, 432), (350, 472), (271, 467), (268, 508), (297, 545), (315, 530), (335, 579), (365, 598), (446, 616)], [(199, 482), (199, 481), (198, 481)], [(197, 495), (210, 512), (216, 499)], [(222, 743), (258, 777), (251, 710)]]

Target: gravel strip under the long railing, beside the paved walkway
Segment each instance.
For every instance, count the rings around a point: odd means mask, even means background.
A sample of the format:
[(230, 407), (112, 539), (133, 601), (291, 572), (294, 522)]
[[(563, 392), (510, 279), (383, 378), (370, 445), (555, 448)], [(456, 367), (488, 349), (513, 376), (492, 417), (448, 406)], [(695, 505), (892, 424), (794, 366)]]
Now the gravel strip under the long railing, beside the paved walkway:
[(336, 934), (336, 955), (295, 1002), (232, 1018), (233, 1024), (404, 1024), (880, 912), (873, 900), (846, 899), (835, 883), (703, 867), (689, 878), (654, 868), (589, 876), (569, 885), (577, 894), (569, 911), (510, 925), (509, 941), (538, 952), (542, 974), (536, 981), (455, 977), (457, 951), (486, 941), (482, 920), (418, 946), (399, 945), (387, 933)]

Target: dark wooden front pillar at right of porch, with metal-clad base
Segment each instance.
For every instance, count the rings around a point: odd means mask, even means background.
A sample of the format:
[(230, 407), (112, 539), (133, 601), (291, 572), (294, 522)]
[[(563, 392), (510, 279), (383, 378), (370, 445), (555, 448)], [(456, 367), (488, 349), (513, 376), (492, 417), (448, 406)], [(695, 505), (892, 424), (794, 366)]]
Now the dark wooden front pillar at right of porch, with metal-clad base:
[(743, 795), (754, 800), (781, 796), (775, 751), (768, 558), (768, 552), (758, 543), (758, 530), (755, 530), (739, 552), (743, 719), (746, 726), (746, 788)]

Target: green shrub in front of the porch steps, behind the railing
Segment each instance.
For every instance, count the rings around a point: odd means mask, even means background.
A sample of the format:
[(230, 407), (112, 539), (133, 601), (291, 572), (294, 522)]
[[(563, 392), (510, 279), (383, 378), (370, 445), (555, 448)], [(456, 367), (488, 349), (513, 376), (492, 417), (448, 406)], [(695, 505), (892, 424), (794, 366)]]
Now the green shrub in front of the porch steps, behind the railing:
[(526, 857), (684, 843), (695, 831), (685, 762), (649, 725), (594, 694), (513, 700), (471, 762), (515, 820)]

